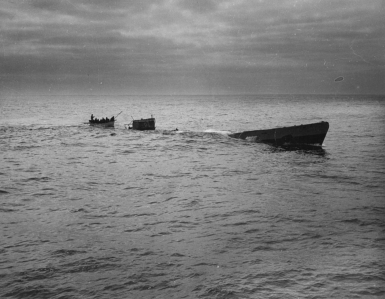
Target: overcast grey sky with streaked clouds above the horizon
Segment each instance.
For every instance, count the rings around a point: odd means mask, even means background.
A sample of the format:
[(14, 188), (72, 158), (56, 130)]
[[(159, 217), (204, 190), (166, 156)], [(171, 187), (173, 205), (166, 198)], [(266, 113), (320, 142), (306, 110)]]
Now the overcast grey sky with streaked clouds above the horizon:
[(0, 94), (385, 94), (383, 0), (3, 0)]

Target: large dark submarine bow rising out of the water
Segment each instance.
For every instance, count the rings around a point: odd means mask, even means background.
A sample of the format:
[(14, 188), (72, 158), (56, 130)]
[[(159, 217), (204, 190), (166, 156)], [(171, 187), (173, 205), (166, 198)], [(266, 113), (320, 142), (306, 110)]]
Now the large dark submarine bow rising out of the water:
[(275, 145), (306, 144), (322, 146), (328, 129), (328, 122), (316, 122), (314, 124), (295, 125), (293, 127), (245, 131), (241, 133), (229, 134), (229, 136)]

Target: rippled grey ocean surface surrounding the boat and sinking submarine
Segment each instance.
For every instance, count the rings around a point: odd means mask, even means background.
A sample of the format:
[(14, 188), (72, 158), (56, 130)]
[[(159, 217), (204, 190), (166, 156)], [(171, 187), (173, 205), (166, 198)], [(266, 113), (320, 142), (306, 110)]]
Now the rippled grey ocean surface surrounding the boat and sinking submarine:
[[(385, 96), (0, 103), (0, 298), (385, 296)], [(228, 136), (320, 121), (318, 148)]]

